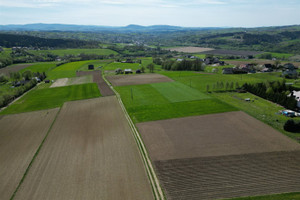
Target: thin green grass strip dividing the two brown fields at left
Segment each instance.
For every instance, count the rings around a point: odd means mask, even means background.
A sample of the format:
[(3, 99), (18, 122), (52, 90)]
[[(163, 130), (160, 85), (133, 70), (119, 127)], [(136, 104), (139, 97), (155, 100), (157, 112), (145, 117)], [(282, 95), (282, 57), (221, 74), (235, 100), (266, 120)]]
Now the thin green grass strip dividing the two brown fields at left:
[(21, 187), (22, 183), (24, 182), (24, 180), (25, 180), (25, 178), (26, 178), (26, 175), (28, 174), (28, 172), (29, 172), (29, 170), (30, 170), (30, 168), (31, 168), (31, 166), (32, 166), (32, 164), (33, 164), (33, 162), (34, 162), (34, 160), (35, 160), (36, 157), (38, 156), (38, 154), (39, 154), (41, 148), (43, 147), (43, 144), (45, 143), (45, 141), (46, 141), (46, 139), (47, 139), (47, 137), (48, 137), (50, 131), (52, 130), (52, 127), (53, 127), (54, 123), (56, 122), (56, 119), (57, 119), (57, 117), (58, 117), (58, 115), (59, 115), (59, 113), (60, 113), (60, 111), (61, 111), (61, 108), (62, 108), (62, 107), (60, 107), (59, 110), (57, 111), (57, 113), (56, 113), (56, 115), (55, 115), (55, 118), (53, 119), (53, 122), (51, 123), (51, 125), (50, 125), (50, 127), (49, 127), (49, 129), (48, 129), (48, 131), (47, 131), (47, 133), (46, 133), (46, 135), (45, 135), (45, 137), (44, 137), (44, 139), (42, 140), (40, 146), (38, 147), (38, 149), (36, 150), (34, 156), (32, 157), (32, 159), (31, 159), (31, 161), (30, 161), (30, 163), (29, 163), (29, 165), (28, 165), (28, 167), (27, 167), (27, 169), (26, 169), (26, 171), (25, 171), (25, 173), (24, 173), (22, 179), (20, 180), (20, 182), (19, 182), (18, 186), (16, 187), (14, 193), (13, 193), (12, 196), (10, 197), (10, 200), (13, 200), (13, 199), (15, 198), (15, 196), (16, 196), (16, 194), (17, 194), (19, 188)]

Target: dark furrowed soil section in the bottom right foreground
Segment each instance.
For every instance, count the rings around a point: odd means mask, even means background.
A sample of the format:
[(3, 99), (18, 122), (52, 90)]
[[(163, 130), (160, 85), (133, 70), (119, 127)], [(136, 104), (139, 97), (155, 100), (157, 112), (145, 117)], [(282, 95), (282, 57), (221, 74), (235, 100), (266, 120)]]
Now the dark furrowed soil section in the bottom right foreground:
[(155, 161), (168, 199), (299, 192), (300, 151)]

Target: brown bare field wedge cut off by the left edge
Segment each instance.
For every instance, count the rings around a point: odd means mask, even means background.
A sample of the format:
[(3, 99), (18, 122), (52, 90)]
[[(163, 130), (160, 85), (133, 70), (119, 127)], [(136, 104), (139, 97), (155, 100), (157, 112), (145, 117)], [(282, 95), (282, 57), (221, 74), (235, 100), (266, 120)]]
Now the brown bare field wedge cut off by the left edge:
[(57, 112), (58, 108), (0, 117), (0, 199), (13, 195)]

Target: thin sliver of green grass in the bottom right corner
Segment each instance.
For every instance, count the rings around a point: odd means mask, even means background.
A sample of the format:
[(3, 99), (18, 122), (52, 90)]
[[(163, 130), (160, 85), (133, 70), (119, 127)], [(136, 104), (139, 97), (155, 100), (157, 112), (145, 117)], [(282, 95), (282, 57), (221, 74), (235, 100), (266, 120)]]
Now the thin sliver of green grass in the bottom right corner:
[(298, 200), (300, 199), (300, 192), (286, 193), (286, 194), (273, 194), (256, 197), (242, 197), (234, 198), (231, 200)]

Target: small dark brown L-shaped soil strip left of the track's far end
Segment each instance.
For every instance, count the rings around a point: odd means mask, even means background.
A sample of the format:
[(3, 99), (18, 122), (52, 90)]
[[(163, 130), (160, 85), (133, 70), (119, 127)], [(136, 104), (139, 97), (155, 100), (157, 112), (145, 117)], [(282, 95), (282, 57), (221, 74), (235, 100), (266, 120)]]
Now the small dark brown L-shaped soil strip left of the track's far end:
[(102, 78), (101, 71), (90, 71), (90, 72), (89, 71), (80, 71), (80, 72), (76, 72), (76, 75), (77, 76), (93, 75), (93, 82), (97, 83), (102, 96), (115, 95), (115, 93), (112, 91), (112, 89), (110, 89), (110, 87), (107, 85), (107, 83)]

